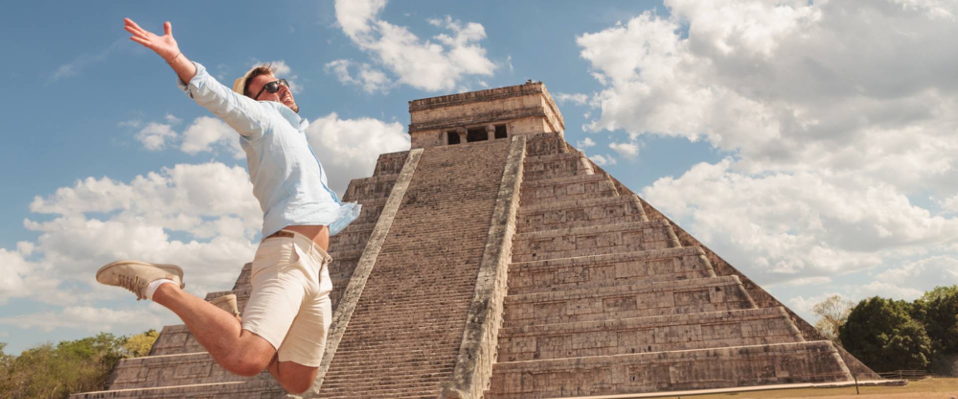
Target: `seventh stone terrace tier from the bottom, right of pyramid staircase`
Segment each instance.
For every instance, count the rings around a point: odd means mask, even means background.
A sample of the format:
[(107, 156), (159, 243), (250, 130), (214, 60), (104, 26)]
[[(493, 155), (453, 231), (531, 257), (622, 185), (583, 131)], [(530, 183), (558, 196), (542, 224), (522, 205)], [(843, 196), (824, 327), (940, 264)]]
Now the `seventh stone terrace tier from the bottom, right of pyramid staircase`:
[(597, 173), (524, 181), (519, 198), (522, 206), (526, 207), (554, 201), (611, 197), (617, 194), (612, 182), (605, 175)]

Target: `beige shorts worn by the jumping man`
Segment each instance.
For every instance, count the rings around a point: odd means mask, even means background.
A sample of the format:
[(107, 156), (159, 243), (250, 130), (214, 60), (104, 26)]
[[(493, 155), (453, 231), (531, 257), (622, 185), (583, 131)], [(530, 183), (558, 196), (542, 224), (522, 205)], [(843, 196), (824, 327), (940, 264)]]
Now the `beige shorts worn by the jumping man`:
[(242, 328), (272, 344), (280, 362), (319, 366), (332, 322), (331, 260), (300, 233), (268, 238), (256, 250)]

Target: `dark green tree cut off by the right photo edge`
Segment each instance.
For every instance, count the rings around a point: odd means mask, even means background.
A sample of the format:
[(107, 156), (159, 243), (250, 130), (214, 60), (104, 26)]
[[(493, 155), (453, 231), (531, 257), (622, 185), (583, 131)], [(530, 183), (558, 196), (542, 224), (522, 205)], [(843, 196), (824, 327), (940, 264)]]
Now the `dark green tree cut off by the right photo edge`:
[(931, 371), (950, 374), (958, 357), (958, 285), (935, 287), (915, 300), (912, 315), (931, 339)]

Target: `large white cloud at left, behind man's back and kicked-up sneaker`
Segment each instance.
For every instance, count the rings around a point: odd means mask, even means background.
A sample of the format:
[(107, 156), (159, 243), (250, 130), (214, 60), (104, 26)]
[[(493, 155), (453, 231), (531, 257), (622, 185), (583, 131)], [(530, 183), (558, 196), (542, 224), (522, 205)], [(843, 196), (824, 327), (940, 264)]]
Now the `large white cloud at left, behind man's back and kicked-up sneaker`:
[[(4, 294), (51, 303), (120, 296), (93, 277), (103, 264), (128, 258), (182, 266), (198, 295), (227, 289), (262, 227), (246, 171), (218, 163), (177, 165), (128, 183), (90, 177), (35, 197), (30, 209), (53, 217), (25, 220), (39, 233), (35, 243), (0, 253), (0, 274), (15, 276), (3, 280), (11, 287)], [(16, 278), (43, 284), (18, 290)]]

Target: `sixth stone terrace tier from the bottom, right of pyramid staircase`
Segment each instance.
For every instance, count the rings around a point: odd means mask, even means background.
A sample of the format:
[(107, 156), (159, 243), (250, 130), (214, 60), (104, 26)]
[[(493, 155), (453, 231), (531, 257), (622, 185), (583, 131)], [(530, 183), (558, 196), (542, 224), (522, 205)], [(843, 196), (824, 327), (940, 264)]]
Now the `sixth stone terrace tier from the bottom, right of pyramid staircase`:
[(520, 208), (516, 232), (531, 233), (648, 220), (641, 201), (634, 195), (581, 198)]

